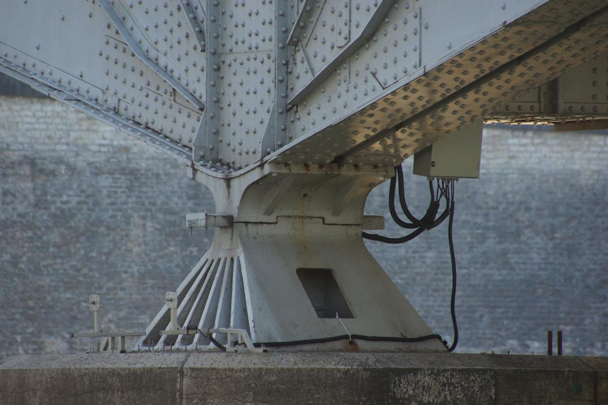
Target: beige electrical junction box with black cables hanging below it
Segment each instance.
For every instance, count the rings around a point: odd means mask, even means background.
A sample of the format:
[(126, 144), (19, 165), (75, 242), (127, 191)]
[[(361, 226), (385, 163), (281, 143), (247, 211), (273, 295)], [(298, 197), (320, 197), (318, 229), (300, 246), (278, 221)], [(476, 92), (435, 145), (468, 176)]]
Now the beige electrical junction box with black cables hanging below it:
[(413, 174), (440, 179), (478, 179), (483, 120), (453, 132), (414, 155)]

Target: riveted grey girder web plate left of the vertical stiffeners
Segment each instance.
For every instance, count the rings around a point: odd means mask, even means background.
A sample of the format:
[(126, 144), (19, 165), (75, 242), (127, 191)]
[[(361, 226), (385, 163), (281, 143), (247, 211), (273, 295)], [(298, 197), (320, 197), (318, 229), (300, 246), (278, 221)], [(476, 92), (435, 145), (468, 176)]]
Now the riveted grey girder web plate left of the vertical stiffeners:
[[(193, 94), (201, 93), (204, 77), (201, 80), (198, 67), (204, 61), (204, 53), (198, 52), (184, 13), (165, 9), (164, 3), (156, 6), (157, 12), (154, 7), (148, 8), (150, 4), (129, 4), (133, 9), (127, 6), (125, 9), (140, 19), (151, 13), (158, 18), (159, 13), (164, 13), (161, 21), (156, 20), (158, 29), (153, 21), (134, 22), (131, 15), (125, 15), (125, 21), (129, 21), (134, 31), (137, 27), (147, 33), (148, 37), (140, 39), (150, 57), (158, 58), (163, 67), (166, 65), (183, 87)], [(118, 7), (119, 3), (115, 5)], [(62, 5), (30, 0), (12, 3), (10, 7), (2, 18), (7, 15), (12, 18), (0, 24), (0, 56), (5, 60), (4, 66), (21, 72), (19, 77), (44, 81), (47, 86), (86, 99), (93, 109), (99, 109), (98, 104), (111, 109), (120, 119), (133, 121), (140, 130), (162, 134), (178, 148), (187, 148), (188, 160), (192, 161), (190, 148), (200, 119), (198, 108), (130, 52), (125, 39), (97, 2)], [(13, 35), (24, 27), (24, 21), (37, 27), (36, 35)], [(163, 36), (158, 37), (161, 30), (168, 29), (163, 21), (171, 24), (179, 38), (169, 42), (167, 37), (165, 42)], [(147, 44), (154, 41), (157, 42), (154, 47)], [(178, 59), (188, 66), (178, 67)], [(178, 158), (181, 160), (182, 155), (178, 154)]]

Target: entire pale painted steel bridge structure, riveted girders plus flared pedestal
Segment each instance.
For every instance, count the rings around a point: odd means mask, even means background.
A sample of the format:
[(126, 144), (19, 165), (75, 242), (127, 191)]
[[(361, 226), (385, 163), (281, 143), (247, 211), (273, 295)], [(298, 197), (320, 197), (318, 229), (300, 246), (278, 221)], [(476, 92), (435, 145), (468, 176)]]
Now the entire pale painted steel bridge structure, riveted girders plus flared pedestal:
[[(27, 0), (0, 13), (0, 70), (167, 152), (232, 217), (140, 344), (209, 347), (161, 335), (171, 309), (255, 342), (413, 337), (429, 327), (362, 243), (381, 225), (363, 217), (367, 193), (473, 122), (522, 119), (519, 106), (606, 117), (593, 83), (607, 35), (603, 0)], [(579, 86), (576, 69), (598, 80)], [(556, 80), (576, 97), (545, 95)], [(297, 268), (331, 269), (354, 318), (317, 318)]]

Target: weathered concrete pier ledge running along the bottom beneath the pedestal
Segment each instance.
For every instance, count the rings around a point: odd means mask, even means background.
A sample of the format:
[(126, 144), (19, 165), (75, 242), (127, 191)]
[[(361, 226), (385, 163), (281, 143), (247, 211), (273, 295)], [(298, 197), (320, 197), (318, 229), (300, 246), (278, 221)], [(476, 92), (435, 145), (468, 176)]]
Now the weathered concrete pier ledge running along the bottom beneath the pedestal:
[(608, 404), (608, 358), (448, 353), (13, 356), (0, 404)]

